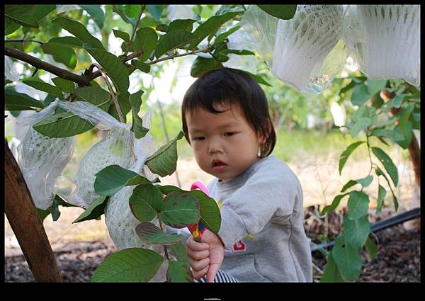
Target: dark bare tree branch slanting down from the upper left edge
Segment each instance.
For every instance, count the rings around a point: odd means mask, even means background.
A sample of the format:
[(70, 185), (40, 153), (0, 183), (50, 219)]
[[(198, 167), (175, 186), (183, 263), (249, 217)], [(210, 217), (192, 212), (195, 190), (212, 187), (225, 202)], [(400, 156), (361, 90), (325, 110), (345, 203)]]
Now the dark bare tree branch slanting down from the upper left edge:
[(90, 81), (87, 81), (87, 79), (85, 79), (84, 76), (79, 76), (77, 74), (69, 72), (68, 70), (58, 68), (47, 62), (43, 62), (41, 59), (38, 59), (37, 57), (33, 57), (31, 55), (27, 55), (25, 52), (21, 52), (19, 50), (9, 48), (9, 47), (4, 47), (4, 54), (7, 55), (8, 57), (14, 57), (23, 62), (27, 62), (28, 64), (31, 64), (38, 69), (42, 69), (52, 74), (55, 74), (57, 76), (60, 76), (62, 79), (74, 81), (77, 84), (81, 84), (84, 86), (88, 86), (90, 84)]

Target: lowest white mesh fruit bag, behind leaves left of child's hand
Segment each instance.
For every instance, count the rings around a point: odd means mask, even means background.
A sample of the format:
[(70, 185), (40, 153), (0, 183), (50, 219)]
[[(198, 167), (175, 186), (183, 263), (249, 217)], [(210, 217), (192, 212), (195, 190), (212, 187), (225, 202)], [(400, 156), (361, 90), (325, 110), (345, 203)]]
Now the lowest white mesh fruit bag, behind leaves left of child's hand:
[[(146, 113), (142, 116), (143, 126), (150, 127), (150, 116)], [(147, 166), (145, 165), (146, 159), (156, 152), (157, 145), (155, 144), (152, 135), (148, 132), (142, 139), (135, 140), (135, 154), (137, 161), (129, 169), (145, 176), (150, 181), (154, 180), (158, 176), (152, 174)], [(146, 170), (148, 172), (146, 172)], [(133, 248), (133, 247), (145, 247), (150, 248), (142, 243), (135, 232), (135, 228), (140, 224), (140, 221), (132, 214), (128, 200), (132, 195), (132, 191), (136, 186), (126, 186), (122, 188), (118, 193), (111, 196), (105, 207), (105, 222), (108, 227), (108, 232), (115, 247), (118, 250)], [(153, 221), (157, 227), (159, 227), (159, 221), (155, 218)]]

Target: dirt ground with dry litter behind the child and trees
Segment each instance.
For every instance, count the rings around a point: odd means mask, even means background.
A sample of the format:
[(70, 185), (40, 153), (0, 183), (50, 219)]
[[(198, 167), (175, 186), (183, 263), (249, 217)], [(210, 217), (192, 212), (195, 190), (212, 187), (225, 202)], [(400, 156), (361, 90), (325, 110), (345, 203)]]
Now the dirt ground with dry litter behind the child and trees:
[[(305, 154), (305, 158), (302, 158), (302, 154), (300, 154), (300, 157), (301, 159), (297, 161), (297, 164), (288, 165), (300, 178), (305, 210), (311, 210), (314, 207), (323, 208), (324, 205), (329, 205), (348, 180), (361, 178), (363, 174), (367, 175), (369, 170), (368, 160), (355, 163), (348, 162), (342, 176), (340, 176), (337, 167), (339, 155), (312, 158)], [(409, 161), (399, 159), (395, 161), (395, 164), (399, 168), (400, 178), (396, 192), (400, 203), (399, 212), (419, 207), (420, 195), (414, 187), (414, 175), (411, 166), (409, 166)], [(181, 188), (189, 189), (193, 181), (201, 181), (206, 184), (212, 179), (212, 176), (198, 169), (194, 160), (179, 159), (177, 174), (179, 181), (174, 174), (162, 178), (162, 184), (178, 186), (180, 183)], [(366, 188), (366, 192), (371, 195), (370, 213), (372, 216), (375, 212), (377, 187), (378, 183), (375, 183), (374, 180)], [(390, 191), (388, 191), (388, 195), (390, 195)], [(385, 215), (395, 215), (392, 202), (387, 199), (385, 203), (387, 204)], [(344, 205), (346, 203), (341, 202), (341, 208)], [(308, 209), (309, 207), (310, 209)], [(103, 217), (100, 221), (90, 220), (72, 224), (72, 221), (83, 212), (83, 209), (61, 207), (60, 210), (60, 219), (53, 222), (51, 216), (48, 216), (45, 219), (44, 226), (52, 249), (57, 256), (62, 279), (65, 282), (88, 282), (94, 269), (108, 254), (115, 251), (115, 246), (108, 235)], [(336, 224), (333, 225), (332, 229), (339, 231)], [(312, 231), (311, 222), (309, 225), (306, 220), (305, 227), (308, 235), (309, 231)], [(311, 234), (313, 236), (314, 233), (311, 232)], [(377, 237), (380, 241), (378, 255), (375, 259), (367, 261), (363, 266), (363, 274), (359, 281), (420, 282), (420, 227), (407, 230), (400, 225), (380, 232)], [(400, 257), (397, 254), (404, 255)], [(323, 272), (325, 261), (319, 252), (314, 252), (313, 255), (315, 280), (318, 280)], [(402, 272), (402, 270), (405, 272)], [(159, 274), (154, 279), (155, 281), (161, 281), (162, 276)], [(33, 276), (28, 269), (28, 263), (23, 259), (16, 237), (13, 235), (5, 216), (5, 281), (31, 282), (33, 281), (31, 277)]]

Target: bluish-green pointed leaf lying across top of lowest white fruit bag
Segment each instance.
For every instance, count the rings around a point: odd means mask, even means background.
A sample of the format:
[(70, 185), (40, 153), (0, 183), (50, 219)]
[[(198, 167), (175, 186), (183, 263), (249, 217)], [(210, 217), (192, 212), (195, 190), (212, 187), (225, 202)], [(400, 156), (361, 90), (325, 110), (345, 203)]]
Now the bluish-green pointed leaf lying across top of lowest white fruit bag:
[(114, 195), (125, 186), (151, 184), (144, 176), (119, 165), (106, 166), (95, 174), (94, 191), (98, 195)]

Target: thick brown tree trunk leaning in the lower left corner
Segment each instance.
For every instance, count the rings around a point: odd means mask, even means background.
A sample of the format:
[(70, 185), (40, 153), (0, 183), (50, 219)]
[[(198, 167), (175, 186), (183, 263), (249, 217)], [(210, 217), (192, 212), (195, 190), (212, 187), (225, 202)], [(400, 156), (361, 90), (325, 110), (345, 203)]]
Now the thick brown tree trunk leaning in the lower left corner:
[(6, 139), (4, 154), (4, 211), (22, 253), (36, 281), (62, 282), (52, 246)]

